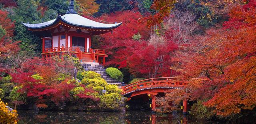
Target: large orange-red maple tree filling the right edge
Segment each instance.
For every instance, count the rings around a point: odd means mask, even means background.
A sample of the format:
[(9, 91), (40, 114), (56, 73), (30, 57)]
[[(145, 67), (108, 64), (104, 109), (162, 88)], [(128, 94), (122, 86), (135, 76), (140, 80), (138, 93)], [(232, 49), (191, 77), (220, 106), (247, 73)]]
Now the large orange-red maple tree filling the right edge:
[(204, 104), (215, 108), (217, 115), (252, 110), (256, 104), (256, 14), (255, 4), (250, 2), (230, 10), (230, 19), (223, 28), (208, 30), (204, 48), (184, 64), (185, 76), (203, 74), (215, 84), (208, 89), (198, 88), (206, 90), (206, 94), (195, 93), (198, 96), (194, 98), (207, 98), (202, 96), (213, 91)]

